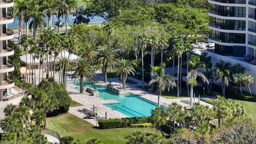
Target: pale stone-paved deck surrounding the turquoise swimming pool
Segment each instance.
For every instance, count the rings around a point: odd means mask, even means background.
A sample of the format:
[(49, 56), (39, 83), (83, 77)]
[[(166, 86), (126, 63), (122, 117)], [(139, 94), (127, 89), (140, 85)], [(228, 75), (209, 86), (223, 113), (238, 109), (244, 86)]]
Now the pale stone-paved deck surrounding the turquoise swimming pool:
[[(58, 78), (56, 76), (55, 78)], [(128, 79), (133, 80), (133, 78), (128, 77)], [(102, 82), (104, 80), (104, 77), (101, 75), (100, 72), (96, 72), (95, 80), (99, 80), (97, 84), (99, 85), (106, 85), (108, 83)], [(145, 90), (142, 90), (136, 86), (142, 86), (142, 81), (134, 79), (134, 81), (138, 82), (137, 84), (128, 84), (126, 83), (126, 89), (127, 92), (136, 94), (142, 98), (145, 98), (147, 100), (150, 100), (152, 102), (157, 103), (158, 102), (158, 96), (156, 94), (152, 94), (150, 92), (147, 92)], [(108, 82), (111, 82), (114, 87), (122, 87), (122, 81), (118, 78), (108, 78)], [(148, 86), (147, 83), (144, 83), (145, 86)], [(99, 97), (91, 96), (89, 93), (85, 92), (83, 94), (80, 94), (78, 90), (76, 90), (76, 86), (74, 84), (70, 84), (67, 86), (67, 91), (70, 94), (70, 97), (72, 100), (79, 102), (80, 104), (83, 104), (84, 106), (78, 106), (78, 107), (70, 107), (69, 112), (71, 114), (74, 114), (75, 116), (78, 116), (79, 118), (82, 118), (83, 120), (86, 120), (90, 122), (91, 124), (94, 124), (96, 126), (96, 119), (86, 119), (86, 114), (83, 112), (78, 112), (78, 108), (86, 108), (91, 109), (93, 108), (93, 105), (99, 108), (97, 111), (97, 114), (100, 118), (105, 118), (105, 112), (107, 112), (107, 119), (109, 118), (126, 118), (129, 116), (126, 116), (125, 114), (122, 114), (121, 112), (118, 112), (116, 110), (112, 110), (111, 108), (105, 106), (104, 104), (110, 104), (110, 103), (116, 103), (116, 100), (102, 100)], [(176, 98), (176, 99), (166, 99), (160, 97), (160, 104), (164, 104), (163, 106), (168, 106), (172, 102), (177, 102), (178, 104), (187, 107), (188, 104), (185, 104), (183, 102), (180, 102), (180, 100), (190, 100), (190, 98)], [(198, 98), (195, 98), (195, 102), (198, 102)], [(208, 104), (206, 102), (200, 101), (200, 104), (202, 105), (208, 105), (210, 108), (212, 108), (211, 104)], [(96, 112), (95, 112), (96, 113)]]

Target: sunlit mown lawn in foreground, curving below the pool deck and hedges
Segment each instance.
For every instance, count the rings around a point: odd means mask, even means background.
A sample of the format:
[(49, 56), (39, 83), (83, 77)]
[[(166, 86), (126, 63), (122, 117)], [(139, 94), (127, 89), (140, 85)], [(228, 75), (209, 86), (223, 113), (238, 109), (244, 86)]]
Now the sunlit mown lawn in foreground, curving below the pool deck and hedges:
[(60, 136), (74, 136), (75, 139), (80, 139), (84, 142), (89, 138), (99, 138), (103, 144), (124, 144), (126, 137), (138, 130), (145, 134), (156, 132), (154, 128), (96, 129), (94, 125), (73, 114), (47, 118), (46, 127), (58, 132)]

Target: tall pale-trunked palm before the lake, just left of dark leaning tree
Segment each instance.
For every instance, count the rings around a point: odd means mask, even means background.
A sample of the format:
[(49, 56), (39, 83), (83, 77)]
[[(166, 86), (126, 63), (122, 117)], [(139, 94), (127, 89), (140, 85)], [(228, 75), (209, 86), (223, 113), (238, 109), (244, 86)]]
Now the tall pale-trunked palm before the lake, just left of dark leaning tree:
[(72, 10), (76, 10), (77, 5), (75, 0), (63, 0), (63, 14), (66, 18), (66, 35), (68, 35), (68, 18)]

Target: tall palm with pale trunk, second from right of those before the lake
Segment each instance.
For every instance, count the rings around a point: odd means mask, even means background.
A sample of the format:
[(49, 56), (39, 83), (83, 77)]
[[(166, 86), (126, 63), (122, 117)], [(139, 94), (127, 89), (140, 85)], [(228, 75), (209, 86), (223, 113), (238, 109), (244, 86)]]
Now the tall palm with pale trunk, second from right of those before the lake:
[(55, 0), (43, 1), (42, 5), (39, 7), (39, 12), (43, 12), (48, 16), (48, 26), (52, 30), (52, 14), (57, 13), (57, 6)]

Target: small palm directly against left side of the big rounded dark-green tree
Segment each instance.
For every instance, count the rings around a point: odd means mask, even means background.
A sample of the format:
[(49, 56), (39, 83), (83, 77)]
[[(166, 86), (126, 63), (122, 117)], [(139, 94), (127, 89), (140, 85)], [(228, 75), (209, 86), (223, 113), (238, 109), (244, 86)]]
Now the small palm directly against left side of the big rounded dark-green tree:
[(38, 104), (40, 104), (42, 102), (42, 100), (45, 98), (46, 95), (45, 95), (44, 91), (39, 87), (34, 87), (34, 88), (30, 89), (30, 92), (31, 92), (32, 100), (35, 101), (34, 110), (36, 110)]

